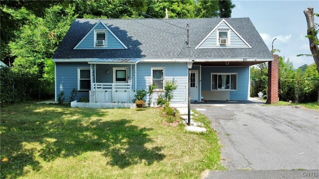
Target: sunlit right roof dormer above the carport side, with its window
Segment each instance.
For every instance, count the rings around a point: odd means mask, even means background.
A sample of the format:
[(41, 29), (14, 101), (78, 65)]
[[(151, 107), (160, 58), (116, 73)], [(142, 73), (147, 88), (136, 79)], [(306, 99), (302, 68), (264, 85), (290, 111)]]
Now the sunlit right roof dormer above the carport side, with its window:
[(197, 48), (251, 48), (229, 23), (222, 19), (195, 47)]

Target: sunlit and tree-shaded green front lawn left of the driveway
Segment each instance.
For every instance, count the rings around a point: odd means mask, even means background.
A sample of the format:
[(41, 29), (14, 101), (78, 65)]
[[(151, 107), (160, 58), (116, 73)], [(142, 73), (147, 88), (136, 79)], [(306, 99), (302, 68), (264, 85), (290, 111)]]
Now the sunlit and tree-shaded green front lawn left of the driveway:
[(14, 104), (0, 111), (0, 178), (199, 178), (223, 170), (215, 132), (162, 125), (160, 108)]

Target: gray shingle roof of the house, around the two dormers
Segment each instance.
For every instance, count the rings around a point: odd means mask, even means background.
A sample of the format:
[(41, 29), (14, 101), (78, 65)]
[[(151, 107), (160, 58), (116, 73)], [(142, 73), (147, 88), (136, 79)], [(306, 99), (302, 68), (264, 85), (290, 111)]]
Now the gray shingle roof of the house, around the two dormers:
[[(273, 59), (271, 52), (249, 18), (224, 18), (252, 48), (194, 49), (222, 18), (200, 19), (75, 19), (53, 59), (76, 58), (141, 58), (174, 59), (187, 40), (184, 29), (189, 24), (190, 49), (178, 59)], [(82, 38), (101, 20), (128, 49), (74, 50)], [(225, 54), (224, 54), (225, 53)]]

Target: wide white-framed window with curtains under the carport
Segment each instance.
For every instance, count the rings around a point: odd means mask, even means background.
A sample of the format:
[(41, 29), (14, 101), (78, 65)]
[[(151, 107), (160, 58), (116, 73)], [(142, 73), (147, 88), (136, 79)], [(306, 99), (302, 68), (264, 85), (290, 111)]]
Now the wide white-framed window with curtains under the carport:
[(237, 90), (237, 74), (211, 74), (211, 90)]

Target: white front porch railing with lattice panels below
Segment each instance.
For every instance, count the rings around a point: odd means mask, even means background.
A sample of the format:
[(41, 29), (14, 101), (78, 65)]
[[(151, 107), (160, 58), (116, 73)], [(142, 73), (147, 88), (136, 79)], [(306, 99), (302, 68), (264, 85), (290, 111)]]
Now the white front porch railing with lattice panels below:
[(92, 83), (90, 102), (133, 103), (131, 87), (130, 83)]

